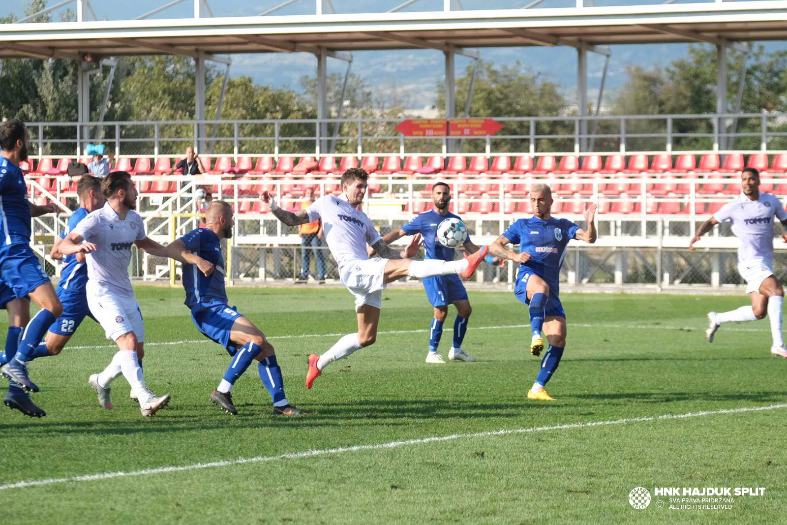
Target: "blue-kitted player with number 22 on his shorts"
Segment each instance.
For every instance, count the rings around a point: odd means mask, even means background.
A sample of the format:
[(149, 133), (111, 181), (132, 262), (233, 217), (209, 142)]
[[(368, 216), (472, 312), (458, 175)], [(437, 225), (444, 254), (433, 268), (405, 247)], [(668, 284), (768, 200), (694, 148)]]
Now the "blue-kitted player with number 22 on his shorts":
[[(58, 353), (61, 353), (61, 350), (68, 343), (68, 339), (74, 335), (79, 324), (82, 323), (86, 316), (90, 316), (91, 319), (95, 320), (90, 309), (87, 308), (87, 294), (85, 293), (87, 266), (84, 253), (76, 253), (64, 257), (58, 250), (58, 246), (60, 246), (61, 239), (65, 238), (68, 232), (72, 231), (79, 224), (80, 220), (83, 220), (88, 213), (104, 205), (105, 199), (101, 191), (101, 180), (94, 176), (82, 176), (79, 179), (76, 193), (79, 195), (79, 204), (82, 207), (76, 209), (72, 216), (68, 218), (68, 226), (64, 232), (61, 232), (60, 238), (57, 239), (50, 253), (50, 257), (53, 259), (63, 261), (60, 282), (57, 283), (57, 298), (60, 299), (63, 305), (63, 313), (49, 327), (46, 337), (42, 342), (39, 342), (39, 346), (28, 356), (28, 362), (36, 357), (56, 356)], [(0, 366), (6, 364), (8, 360), (5, 353), (0, 355)], [(14, 409), (20, 409), (20, 407), (13, 404), (13, 399), (17, 397), (18, 388), (19, 386), (15, 382), (11, 382), (6, 394), (6, 400), (9, 401), (6, 405)]]

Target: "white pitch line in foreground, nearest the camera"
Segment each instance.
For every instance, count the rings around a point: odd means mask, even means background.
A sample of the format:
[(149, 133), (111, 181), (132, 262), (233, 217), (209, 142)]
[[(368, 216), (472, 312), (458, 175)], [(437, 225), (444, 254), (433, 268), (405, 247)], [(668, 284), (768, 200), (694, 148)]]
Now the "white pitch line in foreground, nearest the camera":
[(560, 430), (569, 430), (573, 428), (601, 427), (605, 425), (639, 423), (641, 421), (679, 420), (689, 417), (715, 416), (717, 414), (734, 414), (738, 412), (760, 412), (763, 410), (775, 410), (775, 409), (784, 409), (784, 408), (787, 408), (787, 403), (783, 403), (781, 405), (743, 407), (740, 409), (721, 409), (721, 410), (711, 410), (711, 411), (703, 411), (703, 412), (687, 412), (685, 414), (664, 414), (663, 416), (632, 417), (622, 420), (590, 421), (588, 423), (567, 423), (563, 425), (552, 425), (550, 427), (515, 428), (515, 429), (508, 429), (508, 430), (504, 429), (499, 431), (475, 432), (473, 434), (451, 434), (447, 436), (434, 436), (432, 438), (408, 439), (407, 441), (393, 441), (388, 443), (379, 443), (377, 445), (357, 445), (357, 446), (344, 446), (344, 447), (339, 447), (337, 449), (306, 450), (305, 452), (281, 454), (279, 456), (239, 457), (236, 460), (212, 461), (210, 463), (195, 463), (190, 465), (183, 465), (180, 467), (146, 468), (144, 470), (129, 471), (129, 472), (122, 472), (122, 471), (103, 472), (101, 474), (77, 475), (69, 478), (35, 479), (31, 481), (20, 481), (16, 483), (8, 483), (6, 485), (0, 485), (0, 490), (21, 489), (21, 488), (26, 488), (28, 486), (53, 485), (54, 483), (97, 481), (99, 479), (129, 478), (129, 477), (142, 476), (142, 475), (166, 474), (168, 472), (183, 472), (183, 471), (200, 470), (203, 468), (230, 467), (232, 465), (264, 463), (267, 461), (276, 461), (276, 460), (298, 460), (304, 457), (326, 456), (328, 454), (342, 454), (346, 452), (357, 452), (359, 450), (396, 449), (400, 446), (423, 445), (425, 443), (452, 441), (454, 439), (489, 438), (492, 436), (501, 436), (501, 435), (510, 435), (510, 434), (529, 434), (531, 432), (541, 432), (541, 431), (560, 431)]

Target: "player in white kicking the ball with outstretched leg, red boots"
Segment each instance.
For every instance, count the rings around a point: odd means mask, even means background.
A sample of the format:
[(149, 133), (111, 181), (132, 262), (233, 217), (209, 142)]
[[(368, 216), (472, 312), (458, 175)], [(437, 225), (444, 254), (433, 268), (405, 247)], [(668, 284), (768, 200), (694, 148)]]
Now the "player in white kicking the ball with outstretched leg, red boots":
[[(475, 272), (488, 251), (486, 246), (482, 246), (461, 261), (412, 261), (411, 257), (419, 250), (420, 235), (415, 235), (401, 252), (391, 249), (375, 230), (369, 217), (358, 209), (364, 201), (368, 178), (368, 173), (363, 169), (350, 168), (342, 175), (341, 196), (323, 195), (307, 209), (296, 213), (279, 208), (267, 191), (260, 195), (276, 218), (288, 226), (323, 220), (325, 240), (338, 263), (339, 279), (355, 296), (357, 333), (345, 335), (321, 356), (309, 354), (306, 388), (312, 388), (312, 383), (323, 368), (334, 360), (374, 344), (380, 320), (382, 290), (388, 283), (408, 275), (423, 279), (435, 275), (460, 274), (467, 278)], [(375, 249), (379, 257), (368, 258), (367, 244)]]

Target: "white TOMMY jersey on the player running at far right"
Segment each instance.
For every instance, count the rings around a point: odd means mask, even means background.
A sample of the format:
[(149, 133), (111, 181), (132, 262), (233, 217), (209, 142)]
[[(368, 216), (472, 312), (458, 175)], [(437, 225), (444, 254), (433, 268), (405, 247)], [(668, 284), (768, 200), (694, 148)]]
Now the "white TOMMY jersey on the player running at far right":
[(762, 259), (774, 262), (774, 216), (787, 219), (787, 212), (774, 195), (761, 193), (756, 201), (744, 194), (727, 202), (713, 216), (719, 222), (732, 221), (733, 234), (741, 240), (738, 262), (749, 263)]

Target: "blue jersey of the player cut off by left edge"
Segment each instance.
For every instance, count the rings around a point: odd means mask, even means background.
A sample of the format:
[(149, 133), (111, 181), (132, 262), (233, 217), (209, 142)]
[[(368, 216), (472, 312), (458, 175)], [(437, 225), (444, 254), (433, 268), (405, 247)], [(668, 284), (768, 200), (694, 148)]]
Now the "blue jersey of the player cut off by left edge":
[(30, 244), (28, 186), (19, 166), (0, 157), (0, 251), (3, 246)]

